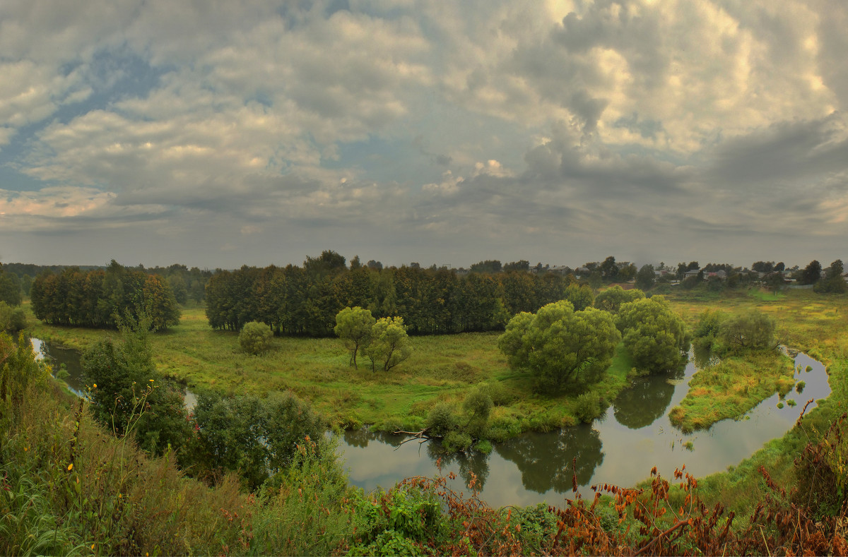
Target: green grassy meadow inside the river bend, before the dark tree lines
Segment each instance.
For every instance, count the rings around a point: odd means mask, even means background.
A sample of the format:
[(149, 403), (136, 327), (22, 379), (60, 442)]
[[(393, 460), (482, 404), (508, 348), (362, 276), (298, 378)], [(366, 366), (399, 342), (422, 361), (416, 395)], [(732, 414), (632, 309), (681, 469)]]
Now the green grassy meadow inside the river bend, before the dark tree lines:
[[(101, 330), (53, 327), (30, 315), (31, 333), (61, 345), (85, 349)], [(376, 429), (423, 427), (437, 402), (461, 402), (480, 383), (497, 385), (490, 427), (495, 439), (527, 431), (549, 431), (577, 422), (577, 395), (533, 392), (532, 380), (507, 366), (497, 348), (498, 333), (413, 337), (415, 352), (390, 373), (372, 372), (366, 362), (349, 366), (339, 339), (273, 339), (265, 356), (238, 350), (236, 333), (209, 328), (203, 308), (183, 309), (180, 324), (152, 339), (159, 371), (192, 389), (231, 394), (265, 394), (291, 389), (340, 427), (373, 424)], [(620, 345), (605, 378), (591, 387), (614, 400), (628, 385), (632, 363)]]

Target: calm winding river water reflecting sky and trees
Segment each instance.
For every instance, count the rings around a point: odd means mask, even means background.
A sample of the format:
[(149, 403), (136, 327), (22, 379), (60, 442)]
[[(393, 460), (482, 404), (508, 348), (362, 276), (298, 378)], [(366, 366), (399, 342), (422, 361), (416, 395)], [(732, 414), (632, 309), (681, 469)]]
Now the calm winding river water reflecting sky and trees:
[[(65, 379), (76, 394), (85, 391), (79, 354), (33, 339), (36, 353), (65, 365)], [(739, 420), (717, 422), (710, 429), (690, 434), (672, 427), (668, 411), (683, 400), (689, 379), (698, 369), (693, 355), (678, 374), (639, 378), (631, 389), (622, 391), (605, 416), (592, 424), (567, 427), (553, 433), (527, 433), (496, 444), (490, 455), (442, 455), (438, 444), (406, 443), (409, 436), (374, 433), (367, 429), (346, 432), (339, 439), (339, 452), (349, 469), (349, 481), (371, 491), (390, 488), (411, 476), (432, 477), (455, 472), (449, 483), (456, 491), (465, 488), (471, 475), (483, 487), (480, 494), (488, 505), (532, 505), (547, 502), (561, 505), (573, 498), (572, 462), (576, 462), (577, 483), (583, 497), (591, 498), (592, 485), (614, 483), (633, 486), (656, 466), (663, 477), (672, 477), (675, 468), (686, 469), (696, 477), (720, 472), (760, 449), (767, 441), (784, 435), (798, 419), (806, 400), (820, 400), (830, 394), (824, 366), (805, 354), (795, 356), (795, 379), (806, 387), (795, 398), (798, 406), (778, 408), (778, 394), (763, 400)], [(810, 371), (804, 371), (810, 367)], [(187, 391), (191, 408), (196, 399)], [(815, 403), (811, 405), (815, 406)], [(576, 459), (576, 460), (575, 460)]]

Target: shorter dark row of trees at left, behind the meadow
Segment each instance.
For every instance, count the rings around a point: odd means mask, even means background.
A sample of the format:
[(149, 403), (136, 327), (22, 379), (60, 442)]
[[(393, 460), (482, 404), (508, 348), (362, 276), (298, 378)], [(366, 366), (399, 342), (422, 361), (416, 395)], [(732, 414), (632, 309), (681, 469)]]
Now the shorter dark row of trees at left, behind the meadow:
[(170, 286), (159, 275), (123, 267), (112, 260), (105, 271), (65, 268), (44, 273), (32, 283), (32, 312), (52, 325), (115, 328), (119, 316), (147, 312), (152, 327), (163, 330), (180, 322)]

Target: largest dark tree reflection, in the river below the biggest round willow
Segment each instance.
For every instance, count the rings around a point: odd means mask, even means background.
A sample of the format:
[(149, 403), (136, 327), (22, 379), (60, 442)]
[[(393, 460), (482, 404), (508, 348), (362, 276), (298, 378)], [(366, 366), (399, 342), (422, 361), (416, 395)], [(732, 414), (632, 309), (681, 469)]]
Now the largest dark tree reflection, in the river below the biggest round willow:
[(600, 435), (588, 424), (566, 427), (560, 433), (527, 433), (495, 447), (516, 463), (524, 487), (539, 494), (572, 490), (572, 460), (577, 457), (577, 483), (588, 485), (604, 461)]

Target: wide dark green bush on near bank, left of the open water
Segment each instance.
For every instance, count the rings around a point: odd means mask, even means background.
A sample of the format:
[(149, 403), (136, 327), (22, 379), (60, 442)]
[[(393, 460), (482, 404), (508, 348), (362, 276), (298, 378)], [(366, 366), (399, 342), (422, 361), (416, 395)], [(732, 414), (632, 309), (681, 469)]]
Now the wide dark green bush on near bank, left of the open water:
[(298, 444), (324, 432), (321, 418), (290, 392), (265, 399), (200, 394), (194, 414), (205, 461), (215, 471), (240, 472), (251, 488), (289, 466)]

